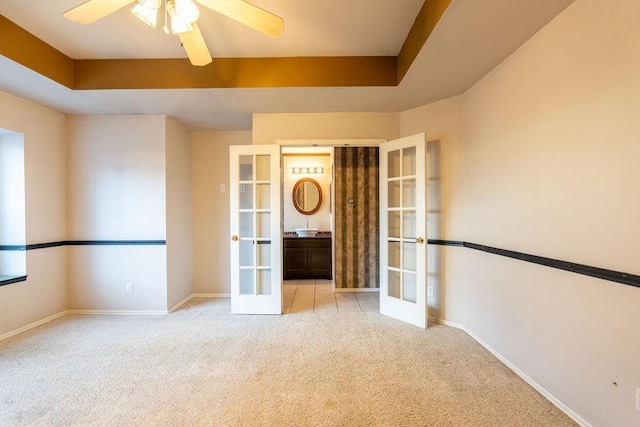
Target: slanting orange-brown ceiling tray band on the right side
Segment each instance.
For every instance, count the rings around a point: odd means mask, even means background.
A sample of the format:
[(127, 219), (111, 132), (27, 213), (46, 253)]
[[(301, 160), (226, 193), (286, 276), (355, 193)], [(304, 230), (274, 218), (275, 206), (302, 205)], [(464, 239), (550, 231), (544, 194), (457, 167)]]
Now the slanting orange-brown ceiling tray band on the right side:
[(411, 68), (411, 64), (427, 42), (442, 15), (451, 4), (451, 0), (426, 0), (398, 54), (398, 79), (400, 84)]

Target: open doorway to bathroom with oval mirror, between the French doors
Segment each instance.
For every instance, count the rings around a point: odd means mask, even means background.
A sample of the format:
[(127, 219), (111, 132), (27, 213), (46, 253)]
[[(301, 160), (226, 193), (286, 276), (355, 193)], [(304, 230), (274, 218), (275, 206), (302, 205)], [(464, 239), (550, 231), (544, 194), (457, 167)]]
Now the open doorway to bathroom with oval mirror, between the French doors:
[(377, 143), (283, 146), (283, 312), (379, 310)]

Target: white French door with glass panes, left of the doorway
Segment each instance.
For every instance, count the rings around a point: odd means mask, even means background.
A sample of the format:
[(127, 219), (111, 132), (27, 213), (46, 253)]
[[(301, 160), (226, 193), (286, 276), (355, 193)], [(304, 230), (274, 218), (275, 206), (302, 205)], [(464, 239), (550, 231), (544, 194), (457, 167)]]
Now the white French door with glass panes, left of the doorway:
[(280, 147), (230, 147), (231, 312), (281, 314)]

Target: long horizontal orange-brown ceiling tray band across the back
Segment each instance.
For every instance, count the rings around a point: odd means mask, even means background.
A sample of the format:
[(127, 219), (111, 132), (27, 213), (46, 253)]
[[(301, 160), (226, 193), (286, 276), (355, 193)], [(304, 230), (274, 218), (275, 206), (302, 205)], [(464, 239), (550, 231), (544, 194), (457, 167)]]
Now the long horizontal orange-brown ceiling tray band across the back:
[(74, 89), (395, 86), (395, 56), (74, 61)]

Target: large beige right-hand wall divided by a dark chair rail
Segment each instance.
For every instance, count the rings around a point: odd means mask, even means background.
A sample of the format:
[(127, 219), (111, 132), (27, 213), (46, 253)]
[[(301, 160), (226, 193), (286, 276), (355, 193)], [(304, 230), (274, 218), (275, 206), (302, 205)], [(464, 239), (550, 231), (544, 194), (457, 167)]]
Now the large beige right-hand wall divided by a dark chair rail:
[[(465, 240), (640, 273), (639, 16), (576, 1), (466, 94)], [(593, 425), (640, 425), (640, 289), (465, 251), (469, 330)]]

